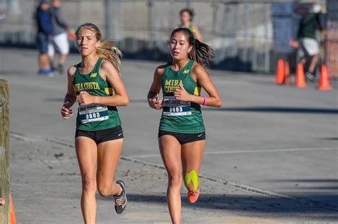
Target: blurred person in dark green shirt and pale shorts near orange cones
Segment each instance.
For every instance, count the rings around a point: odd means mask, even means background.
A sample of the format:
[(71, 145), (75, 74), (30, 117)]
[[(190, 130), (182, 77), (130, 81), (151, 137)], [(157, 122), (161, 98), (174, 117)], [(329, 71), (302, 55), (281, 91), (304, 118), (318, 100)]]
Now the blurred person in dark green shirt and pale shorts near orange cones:
[(309, 61), (309, 68), (305, 73), (308, 80), (313, 81), (315, 78), (314, 71), (319, 58), (319, 41), (316, 39), (316, 31), (323, 31), (319, 22), (319, 13), (322, 7), (314, 4), (309, 13), (303, 16), (299, 23), (298, 40), (299, 40), (299, 56), (302, 58), (301, 63), (305, 65)]

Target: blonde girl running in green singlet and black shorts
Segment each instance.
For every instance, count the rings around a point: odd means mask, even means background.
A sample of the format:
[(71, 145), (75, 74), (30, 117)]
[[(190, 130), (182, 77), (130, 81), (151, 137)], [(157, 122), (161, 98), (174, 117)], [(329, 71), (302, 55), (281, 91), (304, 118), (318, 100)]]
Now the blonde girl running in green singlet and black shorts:
[(61, 115), (69, 119), (71, 106), (78, 102), (75, 147), (82, 177), (81, 210), (85, 223), (95, 223), (96, 188), (103, 197), (114, 196), (116, 213), (127, 206), (125, 183), (113, 179), (123, 146), (116, 107), (129, 100), (120, 76), (121, 51), (113, 41), (102, 41), (98, 27), (84, 23), (76, 30), (76, 46), (82, 60), (68, 69)]

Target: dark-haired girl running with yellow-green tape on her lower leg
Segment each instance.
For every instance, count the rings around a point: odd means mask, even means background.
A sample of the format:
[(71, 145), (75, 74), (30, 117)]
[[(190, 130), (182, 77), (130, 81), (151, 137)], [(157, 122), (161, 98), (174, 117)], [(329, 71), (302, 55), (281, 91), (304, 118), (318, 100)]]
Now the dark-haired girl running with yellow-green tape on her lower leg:
[[(148, 105), (162, 109), (158, 143), (168, 173), (167, 202), (173, 223), (180, 223), (182, 178), (188, 201), (200, 195), (200, 166), (205, 150), (205, 126), (200, 105), (221, 107), (222, 99), (203, 67), (213, 50), (194, 37), (188, 28), (176, 28), (170, 35), (172, 62), (156, 68), (148, 92)], [(160, 89), (163, 99), (159, 100)], [(201, 97), (203, 88), (208, 97)], [(181, 171), (182, 165), (182, 171)]]

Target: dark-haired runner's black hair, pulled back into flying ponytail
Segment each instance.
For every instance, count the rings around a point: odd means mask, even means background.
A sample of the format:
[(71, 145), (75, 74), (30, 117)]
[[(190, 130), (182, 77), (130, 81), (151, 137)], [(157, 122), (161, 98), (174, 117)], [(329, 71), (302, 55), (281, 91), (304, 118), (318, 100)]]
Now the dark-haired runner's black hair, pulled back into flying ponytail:
[(195, 60), (195, 62), (203, 66), (205, 64), (208, 64), (208, 62), (213, 59), (214, 50), (207, 44), (198, 41), (198, 39), (194, 37), (193, 32), (191, 32), (188, 28), (181, 28), (181, 27), (176, 28), (171, 33), (170, 38), (173, 37), (174, 33), (177, 33), (177, 32), (184, 33), (185, 36), (188, 37), (189, 45), (193, 46), (193, 49), (188, 54), (189, 59)]

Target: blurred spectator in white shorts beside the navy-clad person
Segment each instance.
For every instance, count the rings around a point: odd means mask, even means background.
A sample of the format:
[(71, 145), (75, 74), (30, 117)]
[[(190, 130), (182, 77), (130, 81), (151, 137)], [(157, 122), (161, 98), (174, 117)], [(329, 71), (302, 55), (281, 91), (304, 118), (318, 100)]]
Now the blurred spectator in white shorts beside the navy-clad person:
[[(69, 53), (69, 43), (68, 43), (68, 25), (63, 19), (61, 14), (61, 0), (52, 0), (51, 1), (51, 21), (53, 22), (53, 39), (48, 45), (48, 57), (51, 69), (58, 71), (58, 73), (64, 73), (64, 63), (66, 61), (67, 55)], [(55, 62), (55, 51), (60, 53), (58, 58), (57, 65)]]

